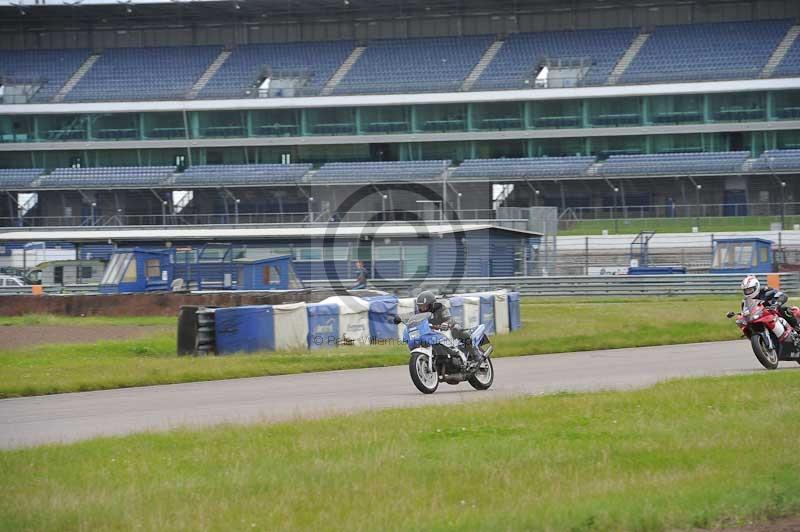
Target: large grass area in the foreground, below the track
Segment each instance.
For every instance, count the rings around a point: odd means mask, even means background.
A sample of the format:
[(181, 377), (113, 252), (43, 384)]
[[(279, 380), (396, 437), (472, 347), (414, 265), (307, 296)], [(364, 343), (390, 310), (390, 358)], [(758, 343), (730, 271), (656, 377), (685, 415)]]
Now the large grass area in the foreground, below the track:
[(96, 439), (0, 453), (0, 529), (734, 525), (800, 513), (798, 427), (777, 371)]

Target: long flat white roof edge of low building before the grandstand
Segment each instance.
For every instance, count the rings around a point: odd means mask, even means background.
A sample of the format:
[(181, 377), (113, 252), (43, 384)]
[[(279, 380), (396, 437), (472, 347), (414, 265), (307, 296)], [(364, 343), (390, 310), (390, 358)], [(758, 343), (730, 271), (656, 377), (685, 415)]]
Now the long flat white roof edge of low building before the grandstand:
[(425, 236), (444, 236), (454, 233), (480, 231), (493, 229), (501, 232), (512, 233), (517, 236), (537, 237), (540, 233), (511, 229), (490, 224), (409, 224), (393, 222), (389, 225), (347, 225), (332, 224), (297, 227), (297, 226), (271, 226), (257, 227), (221, 227), (208, 229), (207, 226), (176, 229), (82, 229), (82, 230), (16, 230), (0, 233), (0, 242), (37, 242), (37, 241), (66, 241), (66, 242), (96, 242), (101, 241), (141, 241), (141, 240), (202, 240), (202, 241), (228, 241), (249, 239), (309, 239), (309, 238), (336, 238), (358, 239), (362, 237), (377, 238), (413, 238)]

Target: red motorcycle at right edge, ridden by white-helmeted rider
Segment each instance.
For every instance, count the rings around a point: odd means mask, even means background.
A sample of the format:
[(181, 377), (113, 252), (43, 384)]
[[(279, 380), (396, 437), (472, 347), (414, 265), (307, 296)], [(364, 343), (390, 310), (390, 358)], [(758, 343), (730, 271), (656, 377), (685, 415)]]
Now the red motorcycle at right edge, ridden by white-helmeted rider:
[[(789, 310), (800, 318), (800, 308)], [(736, 317), (736, 325), (750, 340), (753, 353), (765, 368), (775, 369), (781, 360), (800, 364), (800, 333), (781, 316), (778, 308), (763, 301), (747, 300), (741, 312), (728, 312), (727, 317)]]

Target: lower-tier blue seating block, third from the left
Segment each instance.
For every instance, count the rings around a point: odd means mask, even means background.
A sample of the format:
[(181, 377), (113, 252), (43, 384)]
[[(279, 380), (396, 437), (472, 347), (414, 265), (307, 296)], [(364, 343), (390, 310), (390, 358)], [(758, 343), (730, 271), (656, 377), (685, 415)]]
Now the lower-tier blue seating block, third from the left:
[(294, 183), (310, 164), (218, 164), (191, 166), (175, 176), (176, 185), (263, 185)]

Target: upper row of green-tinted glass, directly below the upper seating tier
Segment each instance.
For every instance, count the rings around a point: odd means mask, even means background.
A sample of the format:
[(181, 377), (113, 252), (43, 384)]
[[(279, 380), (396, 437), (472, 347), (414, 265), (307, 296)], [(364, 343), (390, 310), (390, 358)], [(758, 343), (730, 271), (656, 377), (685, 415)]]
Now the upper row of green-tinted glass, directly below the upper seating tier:
[(800, 91), (472, 104), (0, 115), (0, 142), (307, 137), (800, 119)]

